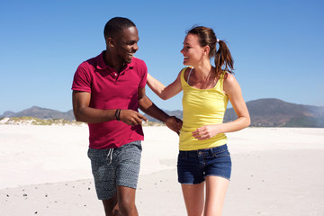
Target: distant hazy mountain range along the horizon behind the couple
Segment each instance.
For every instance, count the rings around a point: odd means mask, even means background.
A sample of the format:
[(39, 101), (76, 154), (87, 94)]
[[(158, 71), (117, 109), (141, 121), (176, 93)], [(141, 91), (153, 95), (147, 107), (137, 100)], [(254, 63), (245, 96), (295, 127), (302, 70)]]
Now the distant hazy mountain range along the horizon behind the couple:
[[(247, 108), (251, 116), (251, 126), (253, 127), (311, 127), (324, 128), (324, 107), (287, 103), (282, 100), (270, 98), (259, 99), (247, 102)], [(174, 115), (180, 119), (183, 112), (180, 110), (166, 111), (169, 115)], [(2, 117), (22, 117), (31, 116), (40, 119), (75, 119), (73, 111), (59, 112), (33, 106), (22, 112), (4, 112)], [(156, 119), (145, 115), (148, 121), (157, 122)], [(234, 121), (237, 115), (233, 108), (229, 108), (224, 117), (224, 122)]]

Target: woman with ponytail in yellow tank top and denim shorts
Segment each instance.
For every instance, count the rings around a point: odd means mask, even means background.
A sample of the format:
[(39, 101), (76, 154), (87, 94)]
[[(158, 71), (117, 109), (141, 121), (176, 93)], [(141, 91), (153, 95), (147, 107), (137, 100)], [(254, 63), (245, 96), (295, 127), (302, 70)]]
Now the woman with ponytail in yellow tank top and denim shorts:
[[(184, 91), (177, 171), (186, 210), (190, 216), (221, 215), (231, 172), (224, 133), (246, 128), (249, 113), (232, 75), (229, 49), (212, 29), (198, 26), (188, 31), (181, 53), (184, 65), (190, 67), (184, 67), (167, 86), (148, 75), (148, 86), (164, 100)], [(229, 101), (238, 119), (222, 123)]]

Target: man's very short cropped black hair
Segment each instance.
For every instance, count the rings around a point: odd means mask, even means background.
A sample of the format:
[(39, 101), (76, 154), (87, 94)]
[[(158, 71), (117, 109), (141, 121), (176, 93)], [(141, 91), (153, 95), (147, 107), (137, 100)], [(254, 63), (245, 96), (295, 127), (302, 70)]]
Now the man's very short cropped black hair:
[(128, 29), (130, 27), (136, 27), (135, 23), (132, 23), (130, 19), (124, 17), (114, 17), (108, 21), (103, 30), (103, 36), (105, 39), (113, 37), (118, 31)]

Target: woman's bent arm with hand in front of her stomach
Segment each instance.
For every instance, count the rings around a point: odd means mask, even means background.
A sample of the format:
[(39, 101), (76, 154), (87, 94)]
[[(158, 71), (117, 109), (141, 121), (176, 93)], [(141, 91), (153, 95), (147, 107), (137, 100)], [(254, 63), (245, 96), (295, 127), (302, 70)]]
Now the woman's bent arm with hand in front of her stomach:
[(233, 132), (247, 128), (251, 123), (250, 116), (247, 110), (238, 81), (233, 75), (228, 74), (224, 80), (224, 92), (229, 96), (229, 101), (233, 106), (234, 111), (238, 115), (235, 121), (205, 125), (202, 128), (193, 131), (193, 137), (196, 139), (210, 139), (219, 133)]

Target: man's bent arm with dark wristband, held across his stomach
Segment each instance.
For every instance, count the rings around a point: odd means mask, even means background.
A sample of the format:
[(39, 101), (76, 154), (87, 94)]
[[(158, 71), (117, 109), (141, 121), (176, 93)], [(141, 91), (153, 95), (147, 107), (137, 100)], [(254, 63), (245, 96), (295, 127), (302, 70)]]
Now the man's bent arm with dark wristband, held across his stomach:
[[(89, 107), (91, 100), (91, 93), (73, 91), (73, 112), (76, 117), (76, 121), (84, 121), (87, 123), (102, 123), (105, 121), (112, 121), (116, 119), (116, 110), (100, 110)], [(142, 120), (147, 119), (133, 110), (121, 110), (121, 121), (129, 125), (138, 125)]]

